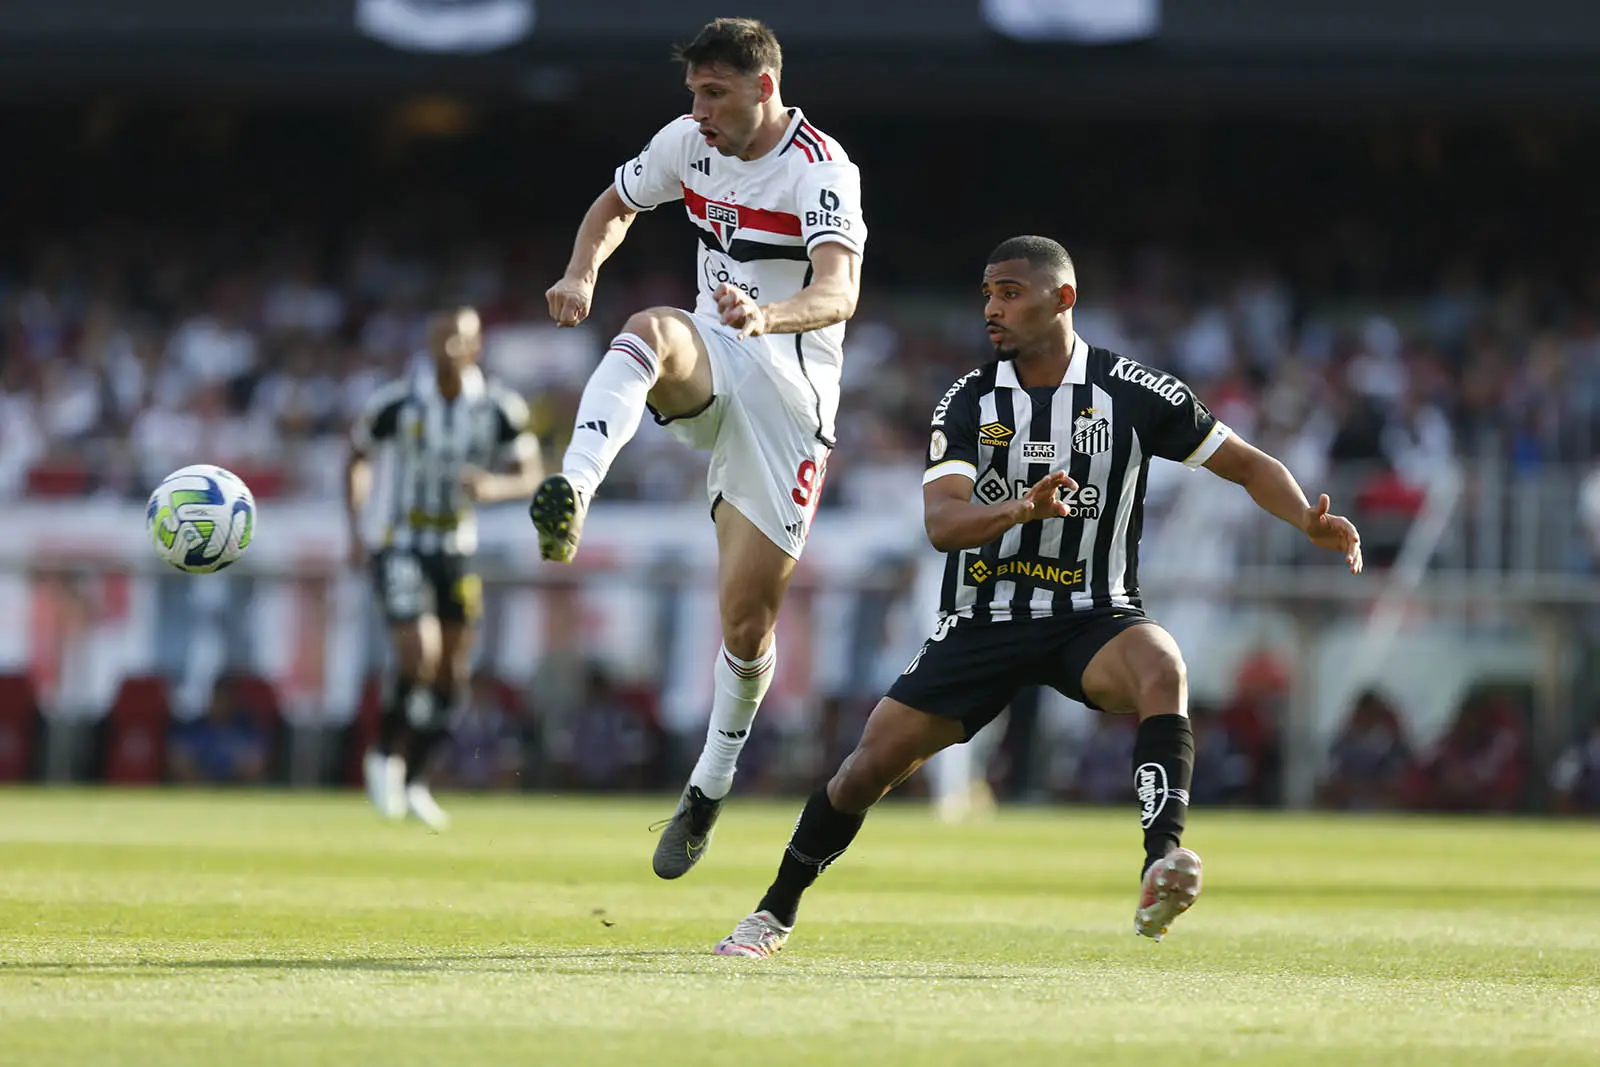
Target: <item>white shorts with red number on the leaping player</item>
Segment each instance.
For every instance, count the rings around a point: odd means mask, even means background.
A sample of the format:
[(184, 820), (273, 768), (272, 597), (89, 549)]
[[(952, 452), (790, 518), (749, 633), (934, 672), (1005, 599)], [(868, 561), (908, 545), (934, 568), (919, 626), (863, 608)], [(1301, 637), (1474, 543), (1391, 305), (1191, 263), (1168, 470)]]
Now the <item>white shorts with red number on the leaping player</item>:
[(782, 338), (747, 338), (709, 315), (685, 312), (710, 357), (712, 398), (688, 418), (656, 418), (674, 437), (710, 453), (706, 494), (739, 509), (779, 549), (800, 558), (827, 475), (829, 446), (818, 395)]

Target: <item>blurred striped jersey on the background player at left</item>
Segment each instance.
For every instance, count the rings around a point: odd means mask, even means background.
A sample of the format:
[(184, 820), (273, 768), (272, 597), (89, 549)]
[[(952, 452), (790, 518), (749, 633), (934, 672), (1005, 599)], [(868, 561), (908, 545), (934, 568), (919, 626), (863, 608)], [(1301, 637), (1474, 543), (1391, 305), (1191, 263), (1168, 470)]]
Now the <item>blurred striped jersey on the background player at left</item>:
[(464, 467), (530, 462), (538, 442), (528, 432), (522, 397), (469, 366), (461, 392), (438, 392), (432, 363), (379, 389), (350, 429), (358, 453), (390, 446), (389, 522), (384, 547), (469, 555), (478, 547), (477, 518), (461, 488)]

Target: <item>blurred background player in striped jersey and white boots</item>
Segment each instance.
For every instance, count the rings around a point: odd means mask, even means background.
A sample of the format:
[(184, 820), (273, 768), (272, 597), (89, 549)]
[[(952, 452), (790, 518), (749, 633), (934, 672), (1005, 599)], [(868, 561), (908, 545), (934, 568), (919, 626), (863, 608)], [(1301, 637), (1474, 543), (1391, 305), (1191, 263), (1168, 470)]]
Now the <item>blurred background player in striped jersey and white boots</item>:
[[(429, 358), (379, 389), (350, 430), (346, 514), (350, 563), (371, 565), (395, 657), (378, 744), (363, 760), (366, 793), (386, 817), (403, 819), (410, 811), (443, 830), (450, 819), (426, 774), (467, 693), (483, 603), (472, 571), (474, 506), (526, 498), (541, 467), (528, 405), (478, 370), (478, 314), (462, 307), (434, 315), (427, 349)], [(392, 451), (389, 520), (382, 547), (368, 553), (360, 526), (371, 494), (371, 456), (381, 445)], [(491, 474), (496, 464), (506, 470)]]

